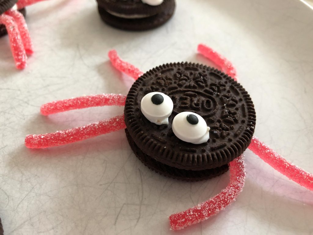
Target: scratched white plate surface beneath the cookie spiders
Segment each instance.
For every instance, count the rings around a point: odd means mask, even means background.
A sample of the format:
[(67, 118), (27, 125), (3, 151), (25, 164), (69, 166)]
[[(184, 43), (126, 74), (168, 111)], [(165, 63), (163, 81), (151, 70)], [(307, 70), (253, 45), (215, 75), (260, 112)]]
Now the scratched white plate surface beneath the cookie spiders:
[(238, 200), (180, 232), (167, 217), (207, 200), (229, 175), (187, 183), (160, 176), (132, 153), (124, 131), (68, 146), (29, 150), (27, 134), (53, 132), (123, 112), (100, 107), (43, 117), (45, 102), (127, 94), (132, 80), (108, 62), (115, 48), (142, 70), (207, 63), (206, 43), (233, 62), (257, 112), (255, 135), (313, 171), (313, 12), (295, 0), (179, 0), (165, 26), (142, 33), (100, 21), (94, 1), (28, 7), (35, 54), (17, 71), (0, 39), (0, 216), (5, 234), (313, 234), (313, 193), (249, 150)]

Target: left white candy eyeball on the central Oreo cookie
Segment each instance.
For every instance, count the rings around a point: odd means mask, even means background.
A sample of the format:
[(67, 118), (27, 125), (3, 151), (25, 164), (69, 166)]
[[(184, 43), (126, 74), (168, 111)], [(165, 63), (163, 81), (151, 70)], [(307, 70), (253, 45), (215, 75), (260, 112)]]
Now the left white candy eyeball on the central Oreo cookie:
[(141, 99), (141, 112), (151, 122), (157, 125), (168, 124), (168, 117), (173, 111), (172, 99), (161, 92), (151, 92)]

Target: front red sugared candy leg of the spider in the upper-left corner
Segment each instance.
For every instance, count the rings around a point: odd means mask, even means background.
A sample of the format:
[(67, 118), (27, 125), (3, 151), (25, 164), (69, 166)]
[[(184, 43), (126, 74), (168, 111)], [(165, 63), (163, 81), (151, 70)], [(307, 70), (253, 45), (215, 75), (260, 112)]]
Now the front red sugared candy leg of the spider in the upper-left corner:
[(18, 26), (11, 16), (6, 14), (0, 15), (0, 24), (4, 24), (10, 39), (11, 51), (15, 61), (15, 66), (18, 69), (26, 67), (27, 56), (18, 31)]

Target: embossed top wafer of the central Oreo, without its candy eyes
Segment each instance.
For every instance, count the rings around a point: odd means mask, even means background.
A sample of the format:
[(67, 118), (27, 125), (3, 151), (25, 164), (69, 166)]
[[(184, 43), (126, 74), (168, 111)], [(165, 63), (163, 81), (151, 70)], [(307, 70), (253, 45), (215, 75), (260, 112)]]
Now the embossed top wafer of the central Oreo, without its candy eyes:
[[(141, 99), (153, 91), (173, 101), (168, 125), (151, 123), (141, 112)], [(204, 118), (210, 127), (207, 142), (191, 144), (175, 136), (173, 118), (186, 111)], [(241, 155), (256, 121), (253, 102), (238, 82), (217, 69), (187, 62), (162, 65), (142, 75), (127, 95), (124, 114), (127, 130), (143, 153), (185, 170), (220, 167)]]

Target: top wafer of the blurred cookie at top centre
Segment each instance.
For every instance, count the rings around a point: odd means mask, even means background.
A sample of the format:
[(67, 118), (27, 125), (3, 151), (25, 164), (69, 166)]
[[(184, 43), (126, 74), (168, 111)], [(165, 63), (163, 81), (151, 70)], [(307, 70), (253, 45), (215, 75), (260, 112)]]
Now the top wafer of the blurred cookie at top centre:
[(97, 0), (98, 5), (105, 10), (125, 15), (144, 14), (148, 16), (163, 12), (174, 0), (164, 0), (162, 4), (151, 6), (141, 0)]

